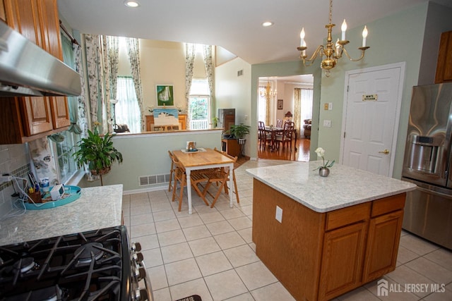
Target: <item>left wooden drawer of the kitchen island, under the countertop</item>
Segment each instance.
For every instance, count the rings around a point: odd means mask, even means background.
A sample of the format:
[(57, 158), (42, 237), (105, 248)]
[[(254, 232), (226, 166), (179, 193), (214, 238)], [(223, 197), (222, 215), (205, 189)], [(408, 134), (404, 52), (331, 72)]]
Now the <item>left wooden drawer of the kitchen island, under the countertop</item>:
[(326, 231), (365, 221), (370, 216), (371, 202), (338, 209), (326, 214)]

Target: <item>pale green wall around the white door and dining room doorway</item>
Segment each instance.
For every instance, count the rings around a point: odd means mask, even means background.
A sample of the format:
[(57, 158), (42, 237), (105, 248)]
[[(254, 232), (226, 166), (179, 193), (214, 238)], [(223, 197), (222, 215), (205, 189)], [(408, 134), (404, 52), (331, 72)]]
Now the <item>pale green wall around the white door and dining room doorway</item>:
[[(420, 74), (422, 37), (424, 37), (427, 7), (427, 3), (420, 4), (413, 6), (407, 11), (395, 13), (392, 16), (368, 23), (367, 28), (369, 30), (369, 35), (367, 37), (367, 46), (369, 46), (370, 49), (367, 50), (364, 59), (362, 61), (352, 62), (348, 61), (346, 57), (343, 57), (343, 59), (340, 59), (338, 65), (333, 68), (329, 78), (327, 78), (323, 72), (320, 73), (320, 61), (318, 61), (319, 63), (314, 63), (314, 66), (309, 68), (304, 67), (300, 61), (251, 66), (251, 111), (254, 112), (251, 121), (257, 123), (256, 108), (258, 77), (312, 73), (314, 74), (314, 109), (312, 120), (311, 160), (316, 159), (313, 150), (317, 146), (321, 146), (323, 149), (326, 149), (328, 159), (339, 161), (340, 142), (342, 137), (345, 72), (347, 70), (382, 66), (389, 63), (406, 62), (405, 84), (403, 87), (403, 100), (396, 149), (396, 163), (393, 171), (393, 177), (400, 178), (408, 125), (411, 90), (413, 85), (417, 85), (417, 78)], [(346, 48), (349, 51), (350, 56), (354, 58), (360, 54), (357, 47), (360, 47), (362, 43), (362, 28), (363, 26), (359, 26), (347, 30), (347, 39), (350, 39), (350, 44), (348, 44)], [(338, 32), (338, 30), (336, 30), (336, 32)], [(338, 36), (333, 36), (333, 40), (337, 37)], [(308, 49), (307, 54), (311, 54), (311, 51), (314, 51), (314, 49)], [(324, 111), (320, 109), (326, 102), (333, 103), (333, 110)], [(331, 128), (323, 128), (323, 120), (331, 120)], [(318, 132), (315, 130), (316, 126), (319, 127)], [(254, 135), (257, 134), (254, 133)], [(257, 147), (254, 149), (254, 152), (257, 152)], [(251, 154), (254, 153), (252, 152)]]

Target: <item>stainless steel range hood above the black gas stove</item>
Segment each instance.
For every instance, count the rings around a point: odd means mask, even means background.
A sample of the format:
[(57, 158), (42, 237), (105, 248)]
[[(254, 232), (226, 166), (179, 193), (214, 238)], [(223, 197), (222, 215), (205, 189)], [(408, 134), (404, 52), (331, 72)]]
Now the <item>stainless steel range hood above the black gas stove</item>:
[(0, 20), (0, 97), (77, 96), (80, 75)]

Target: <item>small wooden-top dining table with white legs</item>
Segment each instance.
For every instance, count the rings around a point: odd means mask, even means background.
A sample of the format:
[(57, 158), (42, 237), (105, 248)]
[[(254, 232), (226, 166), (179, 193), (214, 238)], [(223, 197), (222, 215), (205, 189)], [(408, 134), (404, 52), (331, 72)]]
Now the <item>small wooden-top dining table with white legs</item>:
[[(186, 171), (187, 199), (189, 200), (189, 214), (191, 214), (191, 171), (204, 168), (229, 167), (229, 187), (232, 189), (234, 170), (234, 160), (216, 152), (213, 149), (206, 149), (206, 152), (182, 152), (181, 149), (172, 152)], [(230, 207), (232, 208), (232, 193), (229, 194)]]

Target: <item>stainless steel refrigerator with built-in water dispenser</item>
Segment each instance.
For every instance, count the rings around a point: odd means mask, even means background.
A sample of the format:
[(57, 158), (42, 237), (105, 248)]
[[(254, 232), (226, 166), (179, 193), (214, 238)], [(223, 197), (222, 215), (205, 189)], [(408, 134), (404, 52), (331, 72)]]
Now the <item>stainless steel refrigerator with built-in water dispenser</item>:
[(403, 228), (452, 249), (452, 83), (412, 89), (402, 180), (408, 192)]

